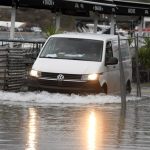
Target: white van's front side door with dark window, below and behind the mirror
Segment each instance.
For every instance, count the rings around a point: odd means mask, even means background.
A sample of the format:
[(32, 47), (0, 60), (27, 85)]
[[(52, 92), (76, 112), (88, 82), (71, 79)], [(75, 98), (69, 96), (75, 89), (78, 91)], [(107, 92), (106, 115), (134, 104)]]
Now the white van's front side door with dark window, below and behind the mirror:
[[(114, 56), (112, 41), (106, 43), (105, 61)], [(120, 89), (119, 64), (106, 66), (106, 78), (109, 93), (118, 93)]]

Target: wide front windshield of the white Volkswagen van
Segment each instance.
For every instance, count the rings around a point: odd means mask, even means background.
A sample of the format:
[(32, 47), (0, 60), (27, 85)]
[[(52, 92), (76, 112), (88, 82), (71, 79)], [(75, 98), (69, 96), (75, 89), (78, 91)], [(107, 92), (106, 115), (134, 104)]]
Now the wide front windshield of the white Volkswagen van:
[(50, 38), (40, 57), (71, 59), (83, 61), (101, 61), (103, 41), (80, 38)]

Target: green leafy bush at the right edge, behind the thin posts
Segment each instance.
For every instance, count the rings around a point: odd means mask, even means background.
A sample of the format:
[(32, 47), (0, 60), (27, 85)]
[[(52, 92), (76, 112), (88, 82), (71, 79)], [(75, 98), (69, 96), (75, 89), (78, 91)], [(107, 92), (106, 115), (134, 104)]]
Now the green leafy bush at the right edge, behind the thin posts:
[(144, 46), (139, 49), (140, 64), (150, 69), (150, 37), (144, 38)]

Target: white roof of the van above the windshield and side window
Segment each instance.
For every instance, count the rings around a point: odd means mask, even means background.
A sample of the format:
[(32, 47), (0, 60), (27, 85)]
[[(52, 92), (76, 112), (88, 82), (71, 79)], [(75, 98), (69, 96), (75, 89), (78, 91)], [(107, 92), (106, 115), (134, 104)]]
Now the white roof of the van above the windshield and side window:
[(118, 39), (117, 35), (110, 34), (96, 34), (96, 33), (78, 33), (78, 32), (67, 32), (62, 34), (55, 34), (51, 37), (64, 37), (64, 38), (81, 38), (81, 39), (94, 39), (94, 40), (110, 40)]

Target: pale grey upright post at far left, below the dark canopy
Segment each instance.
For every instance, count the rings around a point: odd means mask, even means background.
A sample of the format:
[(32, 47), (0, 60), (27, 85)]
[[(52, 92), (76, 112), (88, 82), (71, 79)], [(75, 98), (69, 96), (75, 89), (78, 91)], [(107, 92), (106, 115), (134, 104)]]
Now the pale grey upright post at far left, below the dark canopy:
[[(11, 11), (11, 28), (10, 28), (10, 39), (13, 40), (15, 37), (15, 21), (16, 21), (16, 6), (12, 7)], [(13, 43), (11, 42), (10, 47), (13, 48)]]

